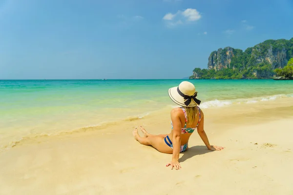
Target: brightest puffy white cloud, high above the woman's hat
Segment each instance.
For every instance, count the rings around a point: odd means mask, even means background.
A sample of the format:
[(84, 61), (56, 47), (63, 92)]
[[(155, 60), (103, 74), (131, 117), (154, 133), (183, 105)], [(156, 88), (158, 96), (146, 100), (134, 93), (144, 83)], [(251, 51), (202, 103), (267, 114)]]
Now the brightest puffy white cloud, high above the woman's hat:
[[(164, 17), (163, 20), (166, 20), (167, 26), (175, 26), (178, 24), (184, 24), (187, 23), (188, 21), (196, 21), (201, 18), (200, 13), (196, 9), (191, 9), (188, 8), (184, 11), (177, 11), (177, 13), (172, 14), (172, 13), (167, 13)], [(176, 22), (174, 22), (176, 20)]]

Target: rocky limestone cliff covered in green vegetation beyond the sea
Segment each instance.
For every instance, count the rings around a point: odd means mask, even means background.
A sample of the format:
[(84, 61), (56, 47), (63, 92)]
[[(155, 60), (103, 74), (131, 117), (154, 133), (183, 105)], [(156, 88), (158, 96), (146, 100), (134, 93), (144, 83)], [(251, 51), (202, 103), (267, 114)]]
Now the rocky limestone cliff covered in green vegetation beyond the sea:
[(266, 40), (247, 48), (244, 52), (225, 47), (210, 54), (208, 69), (195, 68), (189, 78), (272, 78), (276, 73), (274, 70), (284, 68), (291, 58), (293, 38)]

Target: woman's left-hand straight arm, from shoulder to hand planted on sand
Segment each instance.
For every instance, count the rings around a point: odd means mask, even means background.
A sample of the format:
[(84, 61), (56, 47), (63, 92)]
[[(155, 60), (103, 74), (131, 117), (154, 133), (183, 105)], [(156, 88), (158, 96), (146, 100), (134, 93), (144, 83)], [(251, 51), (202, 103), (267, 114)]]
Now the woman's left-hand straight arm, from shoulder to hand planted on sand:
[(179, 112), (176, 109), (173, 109), (171, 111), (171, 120), (173, 124), (173, 137), (172, 137), (172, 142), (173, 142), (173, 155), (172, 155), (172, 160), (170, 163), (168, 163), (166, 166), (171, 165), (171, 169), (173, 167), (175, 169), (180, 169), (181, 166), (179, 164), (179, 154), (180, 154), (180, 144), (181, 144), (181, 121), (179, 117)]

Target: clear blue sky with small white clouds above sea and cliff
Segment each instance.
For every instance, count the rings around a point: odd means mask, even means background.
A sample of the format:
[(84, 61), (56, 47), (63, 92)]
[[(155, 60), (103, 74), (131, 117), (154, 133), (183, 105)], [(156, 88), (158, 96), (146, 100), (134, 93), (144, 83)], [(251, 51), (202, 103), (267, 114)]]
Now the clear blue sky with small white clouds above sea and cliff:
[(293, 0), (0, 0), (0, 79), (184, 78), (293, 37)]

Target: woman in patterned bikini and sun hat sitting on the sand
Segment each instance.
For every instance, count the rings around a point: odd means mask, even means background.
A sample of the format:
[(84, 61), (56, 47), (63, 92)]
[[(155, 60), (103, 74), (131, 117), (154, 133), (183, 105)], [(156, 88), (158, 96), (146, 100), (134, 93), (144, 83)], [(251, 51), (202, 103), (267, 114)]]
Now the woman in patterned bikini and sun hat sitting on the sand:
[(151, 145), (158, 151), (167, 154), (173, 154), (171, 162), (166, 166), (171, 166), (177, 170), (180, 169), (179, 153), (188, 149), (188, 140), (195, 129), (202, 138), (209, 150), (222, 150), (223, 147), (212, 146), (204, 131), (204, 113), (198, 107), (200, 100), (196, 98), (197, 92), (192, 83), (183, 81), (178, 87), (169, 89), (169, 97), (180, 108), (174, 108), (171, 111), (172, 130), (168, 135), (151, 135), (140, 127), (145, 137), (140, 137), (137, 129), (133, 130), (134, 138), (144, 145)]

